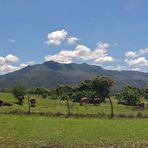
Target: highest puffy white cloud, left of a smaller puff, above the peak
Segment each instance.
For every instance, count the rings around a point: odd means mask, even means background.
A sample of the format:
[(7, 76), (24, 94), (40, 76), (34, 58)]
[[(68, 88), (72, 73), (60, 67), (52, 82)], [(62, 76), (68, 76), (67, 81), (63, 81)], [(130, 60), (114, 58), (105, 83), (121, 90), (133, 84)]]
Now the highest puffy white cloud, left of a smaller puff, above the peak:
[(57, 30), (54, 32), (50, 32), (47, 36), (48, 41), (46, 41), (47, 44), (54, 44), (54, 45), (60, 45), (62, 41), (65, 40), (67, 37), (67, 31), (63, 30)]

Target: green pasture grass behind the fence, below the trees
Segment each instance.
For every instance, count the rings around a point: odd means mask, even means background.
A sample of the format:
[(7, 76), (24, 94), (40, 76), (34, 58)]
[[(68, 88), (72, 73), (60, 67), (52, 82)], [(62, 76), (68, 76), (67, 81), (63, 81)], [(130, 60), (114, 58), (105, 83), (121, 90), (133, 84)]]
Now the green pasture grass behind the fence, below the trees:
[[(15, 102), (16, 99), (10, 93), (0, 93), (0, 99), (5, 100), (7, 102)], [(31, 108), (31, 111), (34, 113), (51, 113), (51, 114), (67, 114), (67, 107), (66, 104), (61, 104), (59, 100), (52, 100), (49, 98), (43, 99), (41, 97), (36, 97), (37, 99), (37, 106), (35, 108)], [(145, 108), (144, 110), (134, 109), (131, 106), (125, 105), (118, 105), (117, 100), (114, 98), (113, 106), (114, 106), (114, 113), (118, 117), (146, 117), (148, 118), (148, 109)], [(79, 103), (70, 102), (70, 110), (73, 114), (80, 114), (80, 115), (94, 115), (94, 116), (109, 116), (110, 114), (110, 104), (107, 102), (102, 103), (101, 105), (83, 105), (80, 106)], [(13, 104), (12, 107), (0, 107), (0, 113), (4, 112), (27, 112), (28, 111), (28, 102), (27, 98), (25, 99), (25, 103), (23, 106), (19, 106), (17, 104)]]

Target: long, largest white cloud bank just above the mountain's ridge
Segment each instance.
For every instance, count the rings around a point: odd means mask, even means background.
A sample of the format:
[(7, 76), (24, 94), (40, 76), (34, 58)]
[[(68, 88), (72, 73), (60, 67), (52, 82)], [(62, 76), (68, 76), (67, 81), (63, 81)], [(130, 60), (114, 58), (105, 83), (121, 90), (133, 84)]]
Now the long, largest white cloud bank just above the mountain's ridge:
[(114, 58), (108, 55), (109, 44), (99, 42), (94, 50), (85, 45), (77, 45), (74, 50), (63, 50), (55, 55), (45, 56), (45, 61), (56, 61), (60, 63), (71, 63), (75, 59), (92, 60), (96, 63), (112, 62)]

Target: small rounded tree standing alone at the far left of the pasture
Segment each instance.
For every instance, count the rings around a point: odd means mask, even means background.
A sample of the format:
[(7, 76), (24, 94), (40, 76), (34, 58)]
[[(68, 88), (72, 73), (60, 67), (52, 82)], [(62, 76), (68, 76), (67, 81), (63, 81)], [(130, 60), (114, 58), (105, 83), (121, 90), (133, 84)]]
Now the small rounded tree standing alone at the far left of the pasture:
[(18, 85), (12, 88), (12, 93), (18, 99), (18, 104), (23, 105), (23, 99), (26, 94), (26, 87)]

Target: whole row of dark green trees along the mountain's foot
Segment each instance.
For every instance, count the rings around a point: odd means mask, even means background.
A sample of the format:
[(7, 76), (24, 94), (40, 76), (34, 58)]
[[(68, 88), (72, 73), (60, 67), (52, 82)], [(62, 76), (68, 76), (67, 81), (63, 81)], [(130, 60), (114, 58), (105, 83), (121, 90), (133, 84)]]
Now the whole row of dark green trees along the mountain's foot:
[(100, 103), (102, 103), (106, 99), (109, 99), (111, 107), (111, 118), (113, 118), (113, 105), (110, 97), (111, 95), (115, 95), (119, 104), (130, 106), (136, 106), (142, 97), (148, 101), (148, 87), (139, 89), (134, 86), (125, 86), (121, 91), (113, 94), (113, 85), (114, 81), (110, 77), (98, 76), (94, 79), (86, 79), (76, 86), (58, 85), (54, 89), (47, 89), (44, 87), (27, 89), (24, 86), (18, 85), (13, 87), (11, 92), (18, 99), (18, 103), (20, 105), (23, 104), (23, 99), (20, 99), (20, 96), (24, 97), (25, 95), (39, 95), (43, 98), (48, 96), (51, 99), (66, 100), (68, 114), (70, 114), (69, 100), (73, 102), (80, 102), (81, 98), (88, 97), (92, 100), (99, 98)]

